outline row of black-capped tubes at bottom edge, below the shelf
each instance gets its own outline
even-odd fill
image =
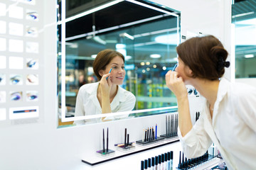
[[[159,156],[145,159],[141,162],[141,169],[144,170],[172,170],[173,169],[174,152],[166,152]]]

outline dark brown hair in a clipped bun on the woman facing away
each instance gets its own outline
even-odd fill
[[[223,76],[230,62],[228,52],[213,35],[186,40],[176,47],[178,57],[188,66],[193,78],[217,80]]]

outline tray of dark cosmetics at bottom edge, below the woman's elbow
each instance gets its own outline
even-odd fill
[[[184,157],[184,153],[182,153],[182,156],[181,156],[181,152],[180,152],[177,169],[192,169],[199,166],[200,164],[203,164],[204,162],[207,162],[209,159],[212,159],[212,158],[213,156],[209,155],[208,152],[206,152],[206,154],[203,154],[203,156],[201,157],[187,159],[186,157]]]

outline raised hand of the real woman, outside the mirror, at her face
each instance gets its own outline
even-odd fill
[[[174,92],[177,99],[188,96],[183,79],[182,77],[177,77],[177,72],[169,71],[166,73],[166,86]]]

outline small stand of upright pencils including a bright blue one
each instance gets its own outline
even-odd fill
[[[155,129],[154,127],[143,129],[142,140],[137,140],[136,143],[137,145],[150,145],[160,141],[164,141],[164,137],[157,136],[157,124],[156,124]]]

